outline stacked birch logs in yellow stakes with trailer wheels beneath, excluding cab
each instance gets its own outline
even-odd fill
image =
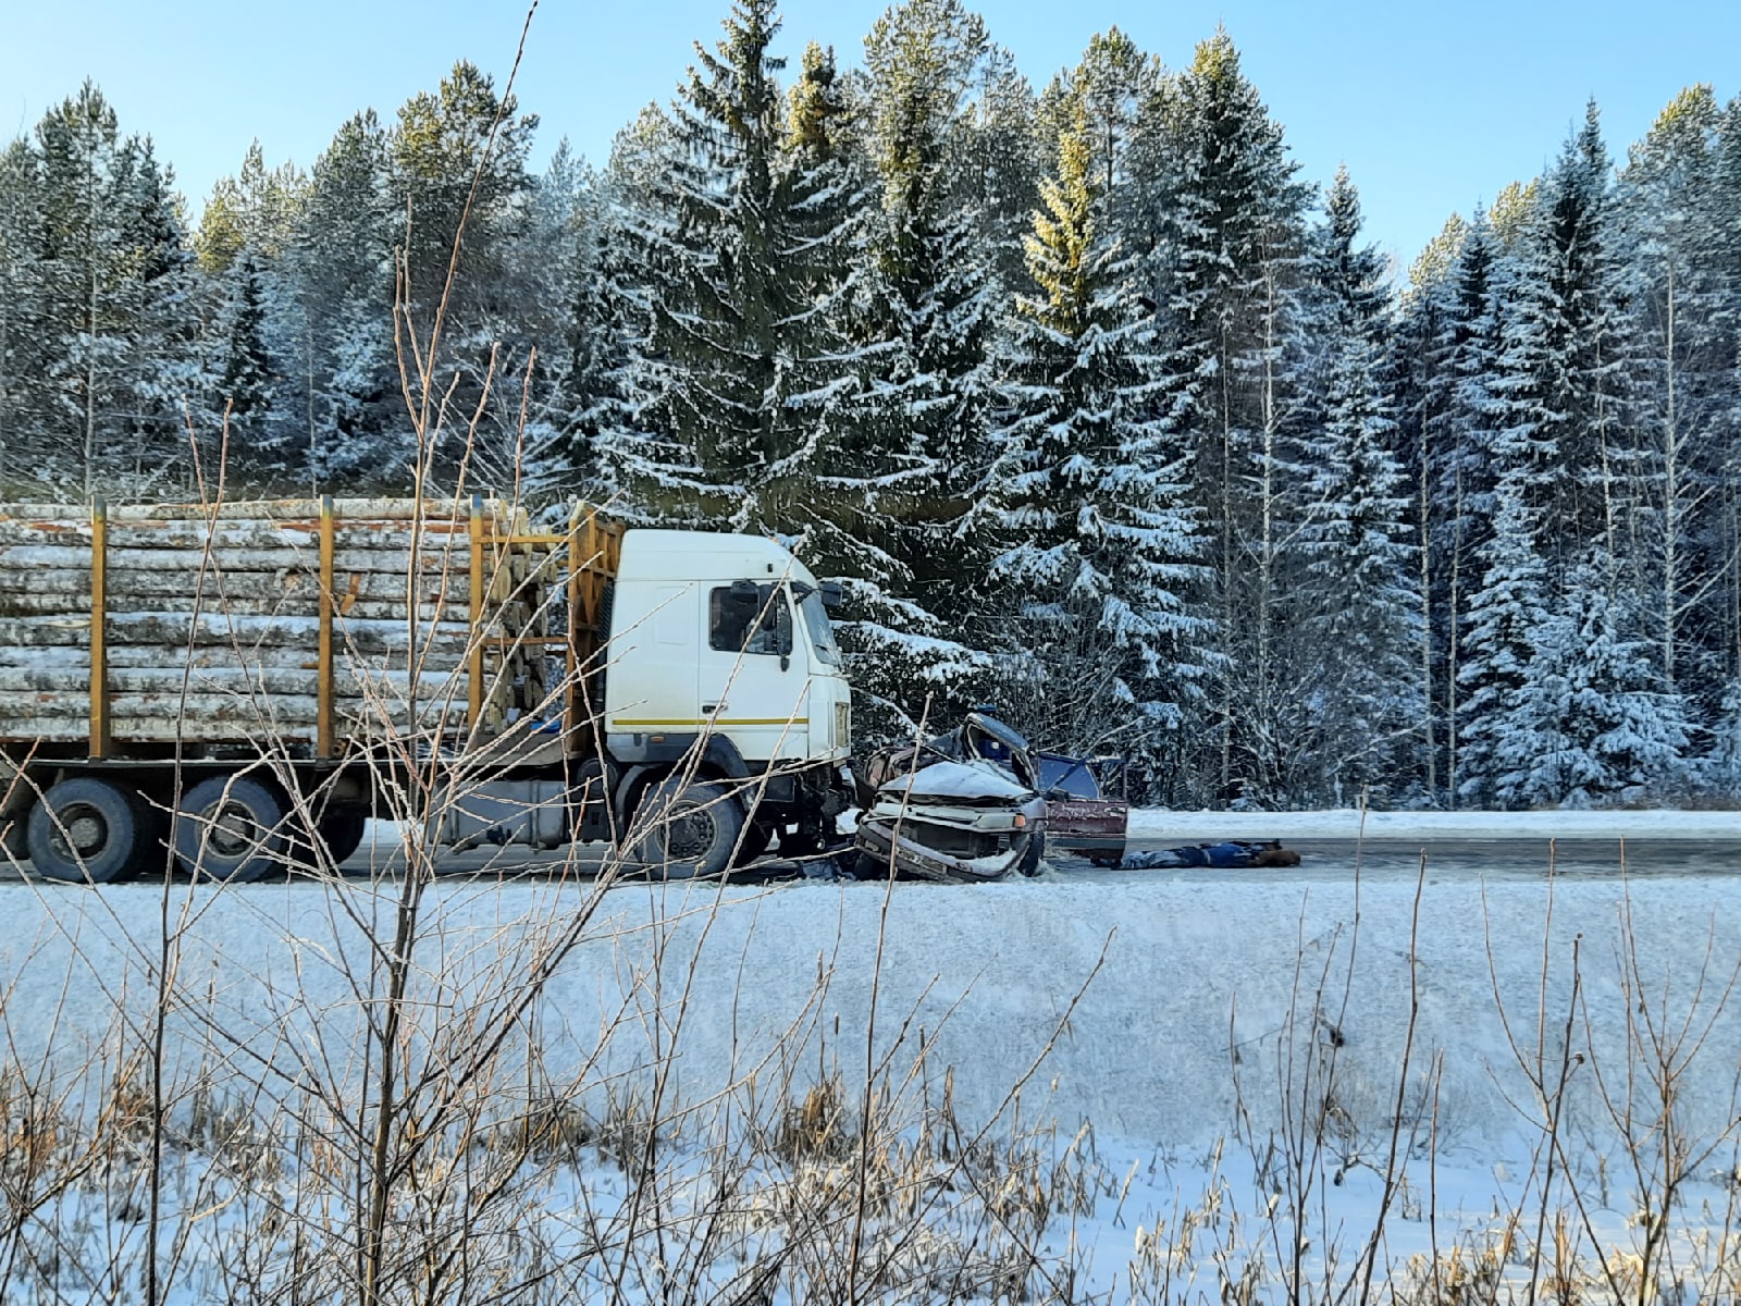
[[[165,839],[251,878],[343,862],[432,757],[568,792],[602,773],[622,540],[486,498],[0,503],[0,839],[50,878],[162,869]]]

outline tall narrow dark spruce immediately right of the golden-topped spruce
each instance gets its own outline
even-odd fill
[[[1283,542],[1299,517],[1290,414],[1306,190],[1226,31],[1154,111],[1166,146],[1151,259],[1163,404],[1208,526],[1201,597],[1213,622],[1212,677],[1182,737],[1196,751],[1179,764],[1201,777],[1198,801],[1276,803],[1295,703],[1276,636]]]

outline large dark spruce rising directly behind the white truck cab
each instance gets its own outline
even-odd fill
[[[620,474],[653,519],[801,533],[829,406],[851,383],[825,305],[825,178],[787,150],[776,31],[773,0],[742,0],[717,52],[698,47],[634,233],[653,277],[641,425],[665,448]]]

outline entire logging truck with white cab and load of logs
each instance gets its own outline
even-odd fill
[[[0,505],[0,839],[89,883],[333,869],[371,815],[670,876],[818,852],[834,599],[773,540],[486,498]]]

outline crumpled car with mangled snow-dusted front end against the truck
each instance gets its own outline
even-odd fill
[[[857,784],[862,879],[977,883],[1039,869],[1046,801],[1034,761],[992,716],[970,712],[945,735],[883,749]]]

